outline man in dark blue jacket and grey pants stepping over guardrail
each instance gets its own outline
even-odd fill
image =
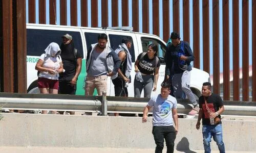
[[[181,41],[178,33],[172,32],[170,39],[172,43],[167,45],[168,52],[165,55],[165,61],[168,61],[165,70],[166,79],[170,79],[170,69],[174,64],[172,78],[174,95],[176,98],[181,98],[182,92],[184,92],[190,104],[194,106],[188,114],[196,115],[199,112],[199,105],[190,89],[190,71],[192,70],[190,62],[194,61],[195,57],[188,42]]]

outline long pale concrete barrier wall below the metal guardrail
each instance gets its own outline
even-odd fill
[[[155,148],[152,118],[3,114],[0,146],[65,146]],[[203,150],[197,119],[179,119],[177,150]],[[256,121],[223,120],[226,150],[256,150]],[[218,150],[212,140],[212,150]]]

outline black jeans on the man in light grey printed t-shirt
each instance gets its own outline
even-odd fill
[[[162,152],[164,139],[167,146],[167,153],[174,152],[174,140],[176,138],[174,126],[153,126],[152,133],[157,145],[155,153]]]

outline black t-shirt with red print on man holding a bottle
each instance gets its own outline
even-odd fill
[[[219,110],[219,108],[221,106],[223,106],[223,100],[221,99],[221,97],[218,94],[211,93],[210,96],[205,97],[205,98],[207,101],[208,108],[212,112],[217,112]],[[199,108],[203,109],[203,117],[202,117],[203,125],[210,125],[210,118],[209,118],[209,115],[208,115],[208,112],[206,110],[206,106],[204,103],[204,96],[199,97]],[[221,118],[221,115],[219,115],[218,117]],[[221,124],[221,121],[218,124]]]

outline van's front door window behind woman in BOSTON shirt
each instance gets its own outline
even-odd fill
[[[146,37],[141,37],[141,44],[142,44],[142,50],[143,52],[147,52],[147,46],[155,43],[158,45],[158,53],[157,56],[160,59],[161,64],[164,63],[164,56],[165,53],[167,51],[167,47],[165,44],[163,44],[161,41],[157,40],[157,39],[152,39],[152,38],[146,38]]]

